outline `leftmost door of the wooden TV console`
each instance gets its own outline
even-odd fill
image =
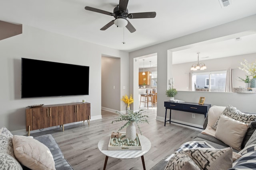
[[[37,130],[49,127],[48,107],[26,109],[26,129]]]

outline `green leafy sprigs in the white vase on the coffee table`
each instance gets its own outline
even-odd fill
[[[148,120],[147,120],[148,115],[143,115],[142,109],[140,109],[139,111],[135,111],[135,112],[128,109],[127,112],[128,112],[127,114],[124,114],[120,111],[116,111],[116,113],[118,113],[119,116],[116,117],[114,119],[114,121],[112,121],[112,124],[114,122],[127,121],[122,127],[120,127],[120,129],[118,130],[118,131],[120,131],[120,130],[124,129],[125,127],[129,126],[130,123],[133,121],[134,123],[137,124],[140,134],[142,134],[138,123],[144,123],[144,122],[148,123]]]

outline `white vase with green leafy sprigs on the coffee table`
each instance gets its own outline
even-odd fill
[[[141,130],[140,130],[140,126],[138,125],[138,123],[148,123],[147,117],[148,115],[143,115],[142,112],[143,110],[140,109],[139,111],[132,111],[130,109],[127,110],[127,114],[124,114],[120,111],[116,111],[116,113],[118,113],[118,117],[116,117],[114,119],[114,121],[112,121],[112,124],[114,122],[119,122],[119,121],[127,121],[123,126],[120,127],[120,130],[122,130],[123,128],[126,127],[126,138],[130,139],[130,140],[134,140],[136,139],[136,127],[135,124],[137,124],[137,127],[140,131],[140,134],[142,134]]]

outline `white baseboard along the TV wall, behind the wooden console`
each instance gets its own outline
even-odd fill
[[[94,120],[98,120],[98,119],[102,119],[102,116],[101,115],[96,115],[96,116],[92,116],[90,118],[90,121],[94,121]],[[70,125],[76,125],[76,124],[79,124],[79,123],[87,123],[87,121],[78,121],[78,122],[73,122],[73,123],[67,123],[67,124],[64,124],[64,129],[66,126],[70,126]],[[90,122],[91,123],[91,122]],[[60,126],[52,126],[52,127],[46,127],[44,128],[43,130],[41,131],[47,131],[47,130],[51,130],[51,129],[56,129],[56,128],[60,128]],[[61,128],[62,129],[62,128]],[[30,135],[32,133],[36,133],[36,132],[41,132],[39,129],[38,130],[34,130],[34,131],[30,131]],[[12,135],[27,135],[28,132],[26,131],[26,129],[21,129],[21,130],[16,130],[16,131],[11,131]],[[33,135],[31,135],[33,136]]]

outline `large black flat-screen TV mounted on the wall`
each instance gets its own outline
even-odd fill
[[[21,98],[89,94],[89,66],[22,58]]]

